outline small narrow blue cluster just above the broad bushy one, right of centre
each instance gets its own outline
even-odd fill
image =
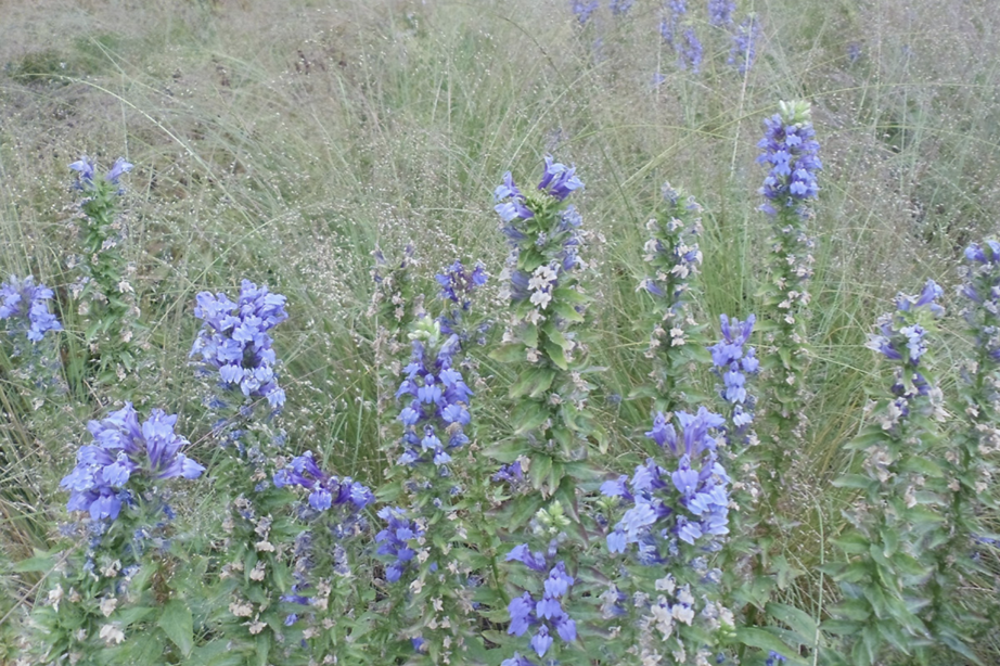
[[[744,350],[744,345],[749,341],[754,331],[756,317],[751,315],[746,321],[722,315],[720,318],[722,340],[708,347],[711,353],[711,363],[715,373],[722,379],[722,389],[719,395],[732,405],[732,424],[736,432],[729,436],[730,444],[745,443],[746,430],[754,421],[754,396],[746,393],[746,375],[756,374],[760,368],[757,360],[757,349],[751,347]]]

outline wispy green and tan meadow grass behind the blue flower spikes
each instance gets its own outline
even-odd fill
[[[843,446],[867,390],[884,383],[864,347],[897,292],[928,278],[953,294],[963,248],[997,233],[1000,209],[1000,5],[992,0],[740,0],[760,35],[745,73],[732,38],[702,3],[697,72],[677,66],[659,2],[637,0],[586,25],[569,2],[371,0],[61,2],[0,9],[0,272],[34,273],[68,307],[80,264],[78,195],[67,165],[81,154],[136,165],[123,181],[128,281],[148,348],[132,396],[181,414],[200,451],[206,388],[188,351],[201,291],[243,278],[289,297],[277,347],[291,446],[371,484],[383,457],[374,408],[374,324],[367,315],[372,252],[415,246],[418,291],[454,259],[496,278],[507,246],[492,210],[504,171],[534,178],[542,156],[575,164],[591,234],[582,278],[592,306],[593,407],[611,453],[640,449],[649,404],[620,400],[643,382],[651,309],[644,222],[669,181],[704,206],[697,316],[759,307],[768,220],[755,164],[761,120],[779,100],[812,103],[824,169],[808,323],[809,430],[782,535],[784,601],[822,615],[832,588],[818,566],[845,527]],[[502,318],[493,279],[485,311]],[[936,353],[966,343],[944,321]],[[10,359],[4,357],[10,369]],[[477,437],[511,431],[510,376],[482,359]],[[82,375],[80,375],[82,377]],[[74,399],[44,419],[0,373],[0,616],[8,629],[34,601],[37,577],[12,573],[48,550],[67,520],[59,482],[87,420],[125,396],[67,377]],[[79,379],[79,381],[77,381]],[[707,371],[697,379],[707,394]],[[150,398],[145,398],[146,400]],[[30,413],[30,410],[28,411]],[[210,505],[209,495],[197,502]],[[0,627],[0,643],[4,627]],[[982,645],[1000,658],[1000,645]],[[0,662],[4,658],[0,649]]]

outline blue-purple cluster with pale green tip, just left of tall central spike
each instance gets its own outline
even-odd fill
[[[471,420],[466,405],[472,390],[451,366],[458,343],[458,336],[451,335],[435,355],[424,342],[413,341],[410,364],[403,369],[407,377],[396,392],[397,398],[409,396],[399,412],[403,425],[399,464],[433,462],[445,476],[449,451],[469,443],[463,428]]]

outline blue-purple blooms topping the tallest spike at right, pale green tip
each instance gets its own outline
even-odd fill
[[[770,166],[760,188],[760,194],[768,200],[761,210],[768,215],[777,215],[780,209],[786,208],[805,217],[805,202],[819,194],[816,172],[823,166],[816,156],[819,143],[815,140],[812,123],[807,118],[808,111],[799,113],[793,108],[764,121],[766,131],[757,143],[764,152],[757,157],[757,163]]]

